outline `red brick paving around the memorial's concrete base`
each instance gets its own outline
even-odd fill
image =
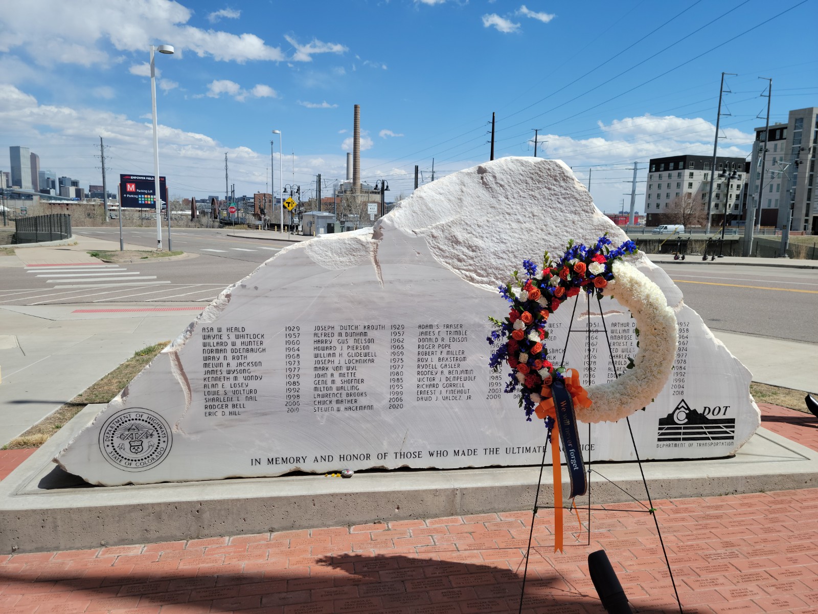
[[[762,416],[818,449],[810,414],[762,405]],[[640,612],[678,612],[653,519],[606,507],[618,511],[593,513],[590,545],[569,517],[561,554],[551,513],[538,514],[524,612],[603,612],[587,569],[600,548]],[[818,488],[654,508],[685,612],[818,612]],[[517,612],[530,513],[0,555],[0,612]]]

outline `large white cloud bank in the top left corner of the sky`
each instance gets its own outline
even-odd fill
[[[34,19],[32,16],[47,16]],[[0,12],[0,52],[25,49],[39,65],[110,65],[117,52],[147,55],[156,41],[218,61],[282,61],[280,47],[255,34],[230,34],[187,25],[192,11],[173,0],[64,0],[11,2]],[[143,56],[144,57],[144,56]]]

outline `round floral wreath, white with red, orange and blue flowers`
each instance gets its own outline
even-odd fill
[[[489,366],[497,372],[506,362],[512,368],[506,392],[519,386],[519,404],[530,421],[532,413],[546,419],[546,427],[555,418],[551,386],[563,382],[573,398],[576,417],[582,422],[615,422],[645,408],[662,390],[670,376],[676,344],[676,314],[667,305],[659,287],[636,267],[622,260],[624,255],[638,252],[636,244],[626,241],[612,249],[607,234],[595,246],[587,247],[569,241],[560,260],[543,255],[542,269],[532,260],[524,260],[527,277],[517,271],[505,286],[501,296],[511,304],[503,320],[489,318],[495,327],[488,342],[505,338],[492,353]],[[555,367],[548,360],[545,330],[548,317],[560,305],[581,291],[598,298],[610,296],[630,309],[636,320],[636,357],[625,373],[605,384],[589,386],[585,391],[574,369]]]

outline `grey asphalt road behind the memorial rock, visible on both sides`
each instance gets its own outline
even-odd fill
[[[118,228],[75,228],[119,242]],[[174,249],[195,258],[99,269],[106,282],[76,271],[2,269],[0,305],[181,303],[213,300],[290,242],[231,237],[225,229],[173,232]],[[151,228],[124,228],[125,242],[153,248]],[[818,343],[818,269],[725,264],[664,264],[704,323],[715,330]],[[49,275],[48,273],[53,273]],[[79,281],[78,281],[79,280]],[[117,285],[119,284],[119,285]]]

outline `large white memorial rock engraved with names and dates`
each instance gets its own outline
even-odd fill
[[[603,233],[627,239],[560,161],[504,158],[430,183],[374,229],[288,247],[228,287],[55,461],[101,485],[538,464],[546,429],[503,392],[508,369],[490,372],[487,317],[506,314],[496,288],[521,260]],[[680,340],[667,386],[631,416],[640,458],[734,453],[759,425],[748,370],[662,269],[634,263]],[[570,337],[566,363],[609,381],[600,314],[578,301],[573,327],[592,332]],[[634,323],[602,304],[621,372]],[[571,308],[548,322],[554,363]],[[586,460],[636,458],[624,421],[580,432]]]

